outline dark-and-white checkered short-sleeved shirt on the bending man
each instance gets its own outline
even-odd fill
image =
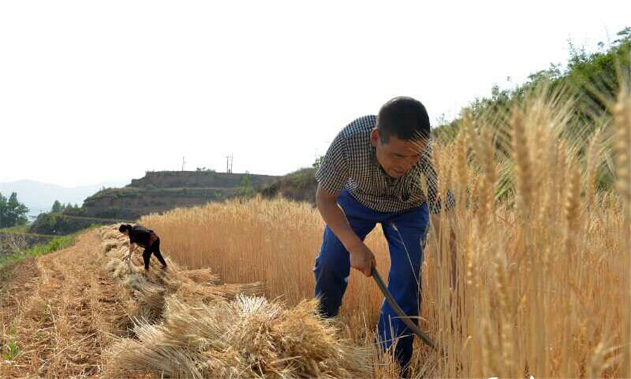
[[[392,178],[379,165],[370,132],[376,116],[363,116],[342,129],[324,156],[315,179],[325,190],[339,195],[346,188],[362,205],[377,212],[401,212],[428,203],[432,214],[441,209],[437,177],[428,144],[416,163],[400,178]],[[427,184],[426,198],[421,186]],[[447,193],[447,209],[454,206],[451,191]]]

